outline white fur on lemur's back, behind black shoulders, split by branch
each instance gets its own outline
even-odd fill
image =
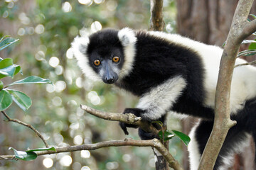
[[[151,35],[170,40],[170,42],[191,49],[200,55],[206,70],[204,87],[206,89],[206,101],[204,104],[211,108],[215,105],[215,89],[218,80],[220,59],[223,49],[214,45],[206,45],[181,35],[162,32],[149,32]],[[245,60],[237,59],[235,64],[245,63]],[[230,111],[235,113],[244,106],[244,102],[256,96],[256,67],[242,66],[234,69],[230,91]]]

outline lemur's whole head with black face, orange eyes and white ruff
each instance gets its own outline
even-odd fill
[[[76,37],[72,49],[86,77],[113,84],[132,70],[137,38],[134,30],[105,29]]]

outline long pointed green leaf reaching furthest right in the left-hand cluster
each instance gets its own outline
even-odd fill
[[[31,76],[31,77],[26,77],[25,79],[15,81],[9,84],[8,86],[14,86],[16,84],[53,84],[53,83],[49,79],[43,79],[41,77]]]

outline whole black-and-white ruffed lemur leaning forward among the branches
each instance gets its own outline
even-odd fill
[[[179,35],[124,28],[75,38],[73,51],[87,77],[114,83],[139,96],[137,108],[124,113],[149,121],[159,120],[169,111],[203,118],[191,130],[188,147],[191,168],[197,168],[213,126],[215,87],[223,52],[220,47]],[[236,64],[244,62],[238,59]],[[255,78],[255,67],[235,68],[230,109],[238,125],[230,129],[215,169],[223,168],[224,158],[237,151],[235,146],[245,141],[247,133],[256,136]],[[142,131],[140,135],[146,136]]]

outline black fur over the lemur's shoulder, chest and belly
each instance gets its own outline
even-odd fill
[[[213,109],[203,106],[204,68],[198,54],[143,31],[137,32],[136,36],[134,68],[117,86],[142,96],[167,79],[181,75],[188,85],[170,109],[179,113],[213,118]]]

